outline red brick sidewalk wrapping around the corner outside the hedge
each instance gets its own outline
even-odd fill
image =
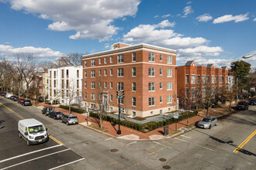
[[[43,107],[50,107],[50,105],[43,104],[43,103],[39,103],[38,105],[43,106]],[[60,107],[54,107],[54,109],[55,110],[60,110],[64,114],[69,113],[68,110],[64,110]],[[210,109],[209,110],[209,116],[220,117],[221,115],[225,114],[225,112],[227,112],[228,109],[229,109],[228,106],[227,107],[216,108],[215,111]],[[83,123],[83,122],[87,121],[86,120],[87,116],[85,116],[85,115],[78,114],[78,113],[75,113],[75,112],[72,112],[72,114],[74,114],[78,117],[79,123]],[[193,124],[196,121],[201,120],[202,117],[205,117],[205,116],[206,116],[206,110],[202,110],[202,111],[200,111],[199,115],[189,118],[189,124]],[[99,126],[99,123],[98,123],[99,120],[98,119],[95,119],[93,117],[88,117],[88,121],[91,122],[92,124],[95,124],[96,126]],[[186,119],[183,120],[183,121],[179,121],[177,123],[177,129],[184,128],[184,127],[186,127],[186,125],[187,125],[187,120]],[[122,134],[117,135],[116,132],[118,130],[118,124],[112,124],[109,121],[102,121],[102,127],[104,128],[104,131],[102,131],[102,132],[107,133],[107,134],[111,134],[112,136],[115,136],[115,137],[122,137],[122,136],[126,136],[126,135],[129,135],[129,134],[135,134],[140,139],[150,139],[150,136],[152,136],[152,135],[161,135],[161,136],[163,136],[163,134],[164,134],[164,128],[157,128],[154,131],[149,131],[147,133],[143,133],[143,132],[140,132],[140,131],[135,131],[132,128],[126,128],[126,127],[120,125],[120,130],[122,131]],[[175,124],[168,125],[168,128],[169,128],[169,137],[171,137],[172,134],[170,132],[175,131]]]

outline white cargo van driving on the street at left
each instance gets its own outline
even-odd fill
[[[26,140],[26,145],[48,141],[47,128],[36,119],[24,119],[18,123],[19,138]]]

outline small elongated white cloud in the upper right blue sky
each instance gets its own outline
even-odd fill
[[[230,22],[230,21],[234,21],[234,22],[243,22],[246,21],[247,19],[249,19],[249,17],[247,16],[249,15],[249,13],[247,12],[246,14],[241,14],[241,15],[223,15],[220,16],[217,19],[213,20],[213,24],[218,24],[218,23],[223,23],[223,22]]]

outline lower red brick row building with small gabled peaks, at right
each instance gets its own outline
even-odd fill
[[[185,66],[177,66],[177,74],[178,98],[193,98],[196,90],[200,90],[203,97],[206,92],[206,86],[211,86],[214,90],[220,91],[228,83],[227,66],[222,66],[221,68],[215,68],[213,64],[196,66],[195,61],[188,61]]]

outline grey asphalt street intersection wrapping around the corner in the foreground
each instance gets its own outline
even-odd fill
[[[223,117],[211,129],[195,128],[161,141],[125,141],[80,125],[61,124],[45,117],[36,107],[23,107],[3,97],[0,103],[11,109],[0,104],[0,169],[12,165],[16,165],[13,169],[49,169],[81,158],[85,159],[60,169],[256,168],[256,135],[251,135],[256,130],[256,106]],[[17,122],[22,117],[41,121],[53,138],[44,144],[27,146],[17,132]],[[240,151],[234,152],[241,144]],[[37,152],[29,154],[31,151]],[[16,158],[22,154],[28,155]],[[19,162],[25,163],[17,165]]]

